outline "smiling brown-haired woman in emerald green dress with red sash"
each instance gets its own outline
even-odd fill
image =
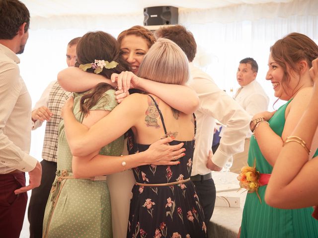
[[[309,69],[318,57],[318,46],[307,36],[291,33],[271,48],[266,79],[274,95],[287,103],[275,112],[256,114],[250,123],[253,131],[248,152],[248,165],[260,173],[256,191],[247,193],[240,238],[313,238],[318,237],[318,221],[313,208],[278,209],[264,201],[273,165],[309,104],[313,81]],[[311,148],[310,158],[317,150]],[[286,165],[287,166],[287,165]],[[241,182],[244,182],[242,175]],[[249,177],[249,176],[248,176]]]

